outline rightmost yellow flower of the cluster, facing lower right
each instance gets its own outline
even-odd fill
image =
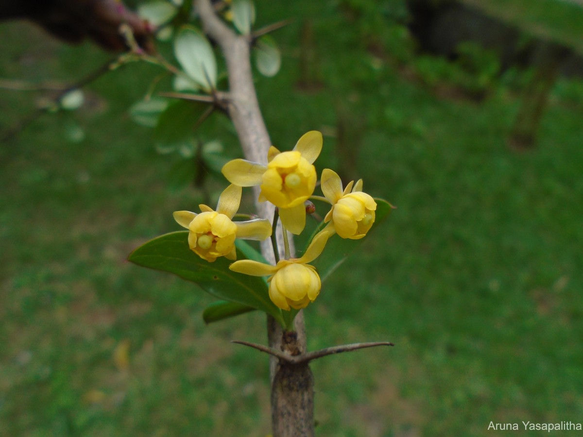
[[[321,185],[322,193],[332,204],[332,209],[324,217],[326,223],[331,222],[326,228],[333,228],[342,238],[363,238],[374,223],[374,212],[377,209],[377,202],[361,191],[363,180],[356,182],[354,188],[353,182],[350,182],[343,191],[338,174],[325,168]]]

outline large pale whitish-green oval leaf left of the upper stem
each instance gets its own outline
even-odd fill
[[[174,40],[174,55],[202,90],[210,93],[216,87],[215,52],[200,30],[192,26],[182,27]]]

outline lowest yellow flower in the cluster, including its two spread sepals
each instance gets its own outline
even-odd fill
[[[318,297],[322,286],[315,267],[308,263],[322,253],[330,235],[327,231],[319,232],[301,258],[282,259],[275,266],[244,259],[234,262],[229,269],[251,276],[270,276],[269,298],[275,305],[286,311],[290,311],[290,306],[305,308]]]

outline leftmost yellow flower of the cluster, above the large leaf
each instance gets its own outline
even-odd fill
[[[188,245],[202,259],[214,262],[219,256],[237,259],[235,238],[264,240],[271,235],[269,220],[232,221],[241,203],[241,187],[229,185],[221,193],[216,211],[199,205],[201,213],[177,211],[174,220],[189,230]]]

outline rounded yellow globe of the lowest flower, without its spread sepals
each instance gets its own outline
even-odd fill
[[[318,297],[322,283],[313,266],[290,262],[269,282],[269,298],[281,309],[301,309]]]

